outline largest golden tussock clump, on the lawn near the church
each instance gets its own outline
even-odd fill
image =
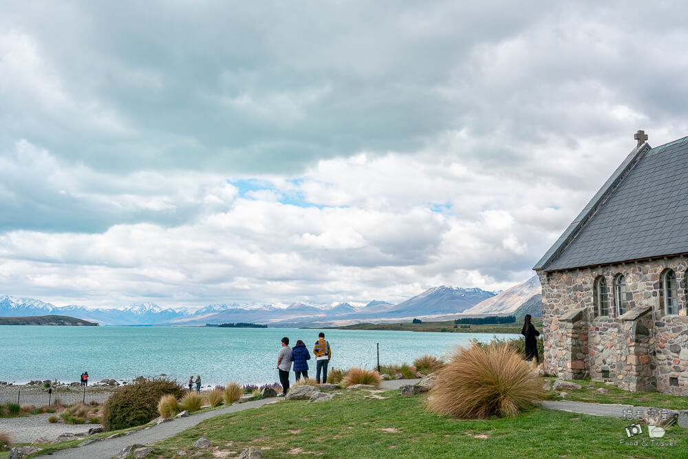
[[[438,374],[428,407],[458,418],[516,416],[544,397],[528,363],[507,345],[459,348]]]

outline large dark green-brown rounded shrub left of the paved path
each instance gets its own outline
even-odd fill
[[[109,398],[103,413],[103,425],[108,430],[127,429],[143,425],[158,416],[158,402],[165,394],[179,398],[182,385],[167,378],[151,378],[125,385]]]

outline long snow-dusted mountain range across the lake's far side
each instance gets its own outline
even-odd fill
[[[373,300],[334,304],[297,302],[283,304],[211,304],[204,308],[161,308],[137,303],[125,308],[57,307],[39,299],[0,296],[0,317],[67,315],[100,325],[205,325],[206,323],[253,322],[272,327],[348,325],[360,322],[448,319],[464,315],[542,314],[537,277],[495,295],[480,288],[439,286],[429,288],[398,304]],[[524,312],[524,311],[528,312]]]

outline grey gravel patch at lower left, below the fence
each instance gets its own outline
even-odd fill
[[[60,434],[85,434],[91,427],[99,427],[98,424],[50,424],[47,418],[53,416],[50,413],[34,414],[21,418],[0,418],[0,431],[6,431],[16,443],[30,443],[36,438],[54,440]]]

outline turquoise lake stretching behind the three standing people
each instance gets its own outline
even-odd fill
[[[0,325],[0,381],[89,381],[167,374],[188,381],[200,374],[203,385],[277,382],[277,351],[282,337],[312,350],[319,331],[332,346],[330,368],[376,367],[412,363],[422,354],[444,356],[471,339],[494,334],[396,332],[372,330],[296,330],[287,328],[202,327],[52,327]],[[500,338],[519,335],[499,334]],[[309,361],[309,376],[315,374]],[[292,373],[293,379],[293,373]]]

